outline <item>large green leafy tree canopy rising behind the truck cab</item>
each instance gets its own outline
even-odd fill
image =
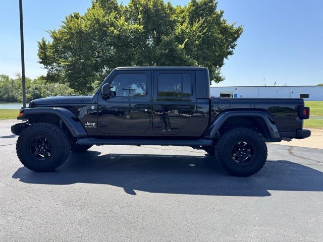
[[[221,67],[233,54],[242,26],[229,24],[215,0],[172,6],[163,0],[93,0],[84,15],[73,13],[50,41],[38,42],[46,79],[89,92],[122,66],[202,66],[224,80]]]

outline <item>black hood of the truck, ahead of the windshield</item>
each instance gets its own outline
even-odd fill
[[[45,97],[32,100],[30,102],[30,107],[38,105],[57,105],[57,104],[80,104],[83,98],[91,98],[92,96],[57,96],[57,97]]]

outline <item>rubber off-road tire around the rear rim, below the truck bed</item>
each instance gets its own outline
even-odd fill
[[[233,148],[240,141],[250,143],[254,150],[254,155],[248,163],[240,164],[233,158]],[[257,173],[267,159],[267,146],[263,137],[247,128],[235,128],[224,133],[218,140],[215,150],[220,165],[229,174],[235,176],[249,176]]]

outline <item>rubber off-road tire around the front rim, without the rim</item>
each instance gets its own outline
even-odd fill
[[[52,155],[44,161],[37,160],[30,150],[34,137],[47,137],[53,149]],[[70,154],[71,142],[66,132],[57,125],[34,124],[22,131],[17,140],[16,151],[21,163],[33,171],[51,171],[62,165]]]

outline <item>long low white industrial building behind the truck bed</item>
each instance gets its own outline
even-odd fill
[[[323,86],[238,86],[211,87],[211,97],[232,98],[304,98],[323,101]]]

